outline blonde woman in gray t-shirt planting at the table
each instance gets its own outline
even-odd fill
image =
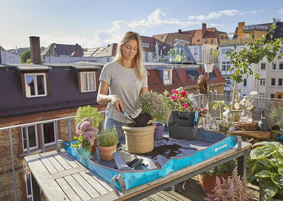
[[[137,117],[139,94],[149,91],[146,70],[142,65],[141,40],[137,33],[125,33],[117,47],[115,60],[105,64],[99,81],[98,104],[108,104],[105,127],[115,125],[118,137],[122,137],[122,125],[129,123],[129,120],[121,112],[125,110],[131,117]]]

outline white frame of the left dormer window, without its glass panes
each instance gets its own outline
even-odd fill
[[[31,96],[28,96],[28,91],[27,91],[27,88],[28,88],[28,84],[27,84],[27,78],[26,76],[33,76],[33,79],[34,79],[34,88],[35,88],[35,95],[31,95]],[[38,95],[38,87],[37,87],[37,76],[43,76],[43,83],[44,83],[44,91],[45,93],[44,94],[40,94]],[[42,97],[42,96],[47,96],[47,78],[46,78],[46,73],[24,73],[23,74],[23,79],[24,79],[24,88],[25,88],[25,97],[26,98],[35,98],[35,97]]]

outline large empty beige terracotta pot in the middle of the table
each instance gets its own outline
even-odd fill
[[[144,154],[154,149],[155,124],[135,127],[134,123],[122,126],[125,133],[127,151],[133,154]]]

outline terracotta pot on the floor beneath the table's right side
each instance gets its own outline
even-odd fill
[[[227,180],[227,178],[231,175],[232,174],[230,173],[226,173],[217,176],[218,178],[220,178],[220,182],[222,183],[222,178]],[[216,180],[215,174],[213,174],[212,176],[199,174],[197,175],[197,178],[199,179],[200,185],[202,186],[202,190],[204,191],[205,194],[207,193],[214,194],[214,192],[212,192],[212,189],[214,189],[215,186],[215,180]]]

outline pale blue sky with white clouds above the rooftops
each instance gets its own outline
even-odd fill
[[[270,4],[269,4],[270,2]],[[83,48],[120,42],[131,30],[153,36],[207,28],[233,33],[245,25],[283,21],[282,0],[0,0],[0,45],[4,49],[52,43]]]

